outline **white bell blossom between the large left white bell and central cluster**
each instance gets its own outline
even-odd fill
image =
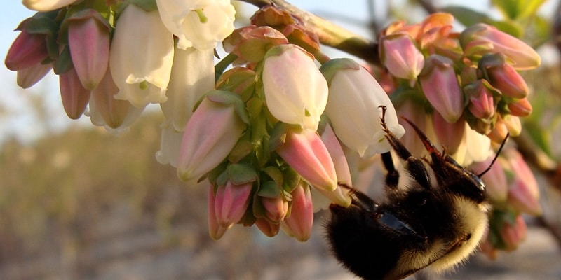
[[[214,52],[212,49],[175,49],[168,100],[160,104],[163,116],[176,131],[183,131],[193,109],[206,92],[214,89]]]

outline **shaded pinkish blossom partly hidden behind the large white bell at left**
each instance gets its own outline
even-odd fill
[[[140,117],[144,108],[137,108],[126,100],[115,99],[118,92],[119,88],[107,67],[107,72],[95,90],[92,90],[90,97],[89,114],[94,125],[124,129]]]

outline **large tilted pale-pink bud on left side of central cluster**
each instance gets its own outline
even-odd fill
[[[236,109],[241,102],[236,94],[217,90],[199,104],[185,126],[177,160],[180,179],[198,179],[227,157],[245,130]]]

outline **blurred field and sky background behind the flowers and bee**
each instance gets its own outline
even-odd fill
[[[505,20],[485,0],[290,2],[370,38],[396,18],[418,22],[431,7],[463,5]],[[527,239],[518,250],[501,252],[496,260],[478,254],[457,273],[419,278],[561,279],[561,179],[555,164],[561,159],[555,145],[561,140],[560,4],[518,2],[545,2],[531,22],[513,21],[543,57],[543,66],[525,73],[534,113],[525,118],[527,134],[517,142],[539,180],[544,214],[527,217]],[[0,52],[6,53],[18,35],[11,30],[33,13],[19,1],[3,6]],[[255,11],[245,4],[237,8],[240,25]],[[212,241],[206,187],[186,186],[175,169],[156,162],[163,121],[156,110],[145,112],[128,132],[109,134],[86,117],[65,116],[52,73],[22,90],[15,73],[2,66],[0,83],[0,279],[353,279],[327,251],[325,212],[316,214],[314,234],[305,243],[239,225]]]

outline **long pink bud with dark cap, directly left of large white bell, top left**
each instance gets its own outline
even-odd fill
[[[93,9],[81,10],[67,22],[72,63],[83,87],[93,90],[109,64],[109,23]]]

